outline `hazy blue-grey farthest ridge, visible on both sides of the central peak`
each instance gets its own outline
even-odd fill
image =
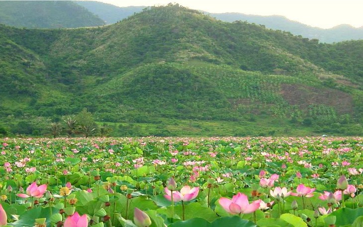
[[[118,7],[112,4],[106,4],[99,1],[75,1],[94,14],[98,15],[101,19],[106,21],[107,24],[120,21],[133,13],[141,12],[146,6],[129,6]],[[284,16],[260,16],[249,15],[243,13],[208,13],[207,15],[213,16],[222,21],[233,22],[236,20],[247,21],[250,23],[262,24],[267,28],[274,30],[288,31],[294,35],[301,35],[309,39],[319,39],[320,42],[333,43],[344,40],[358,40],[363,39],[363,27],[355,28],[351,25],[338,25],[330,29],[323,29],[319,27],[312,27],[297,21],[292,21]]]

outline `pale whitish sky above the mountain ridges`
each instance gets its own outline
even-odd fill
[[[283,15],[315,27],[363,26],[363,0],[98,0],[117,6],[163,5],[177,2],[207,12]]]

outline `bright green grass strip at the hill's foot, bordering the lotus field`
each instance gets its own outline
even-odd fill
[[[253,120],[253,121],[252,121]],[[286,119],[271,116],[246,119],[243,121],[181,120],[160,118],[153,123],[113,123],[111,135],[121,136],[316,136],[311,127],[301,123],[291,126]],[[104,123],[104,122],[99,122]]]

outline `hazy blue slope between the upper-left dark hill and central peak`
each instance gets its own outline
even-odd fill
[[[90,12],[99,16],[107,24],[113,24],[134,13],[141,12],[147,6],[128,6],[118,7],[113,4],[107,4],[99,1],[74,1],[75,3],[87,8]]]

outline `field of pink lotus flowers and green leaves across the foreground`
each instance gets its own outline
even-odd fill
[[[2,138],[0,227],[363,226],[362,137]]]

